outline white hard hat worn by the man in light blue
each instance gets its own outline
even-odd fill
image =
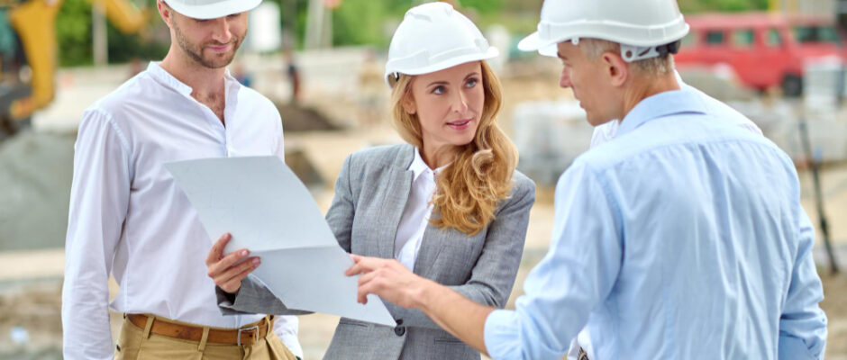
[[[561,41],[594,38],[621,44],[624,59],[635,61],[658,56],[655,47],[686,34],[688,24],[676,0],[545,0],[538,31],[521,40],[518,49],[556,56]]]

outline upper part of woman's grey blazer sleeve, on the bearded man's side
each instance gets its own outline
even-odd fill
[[[335,180],[335,196],[332,197],[332,205],[330,210],[326,211],[326,222],[329,223],[332,233],[338,240],[338,245],[348,253],[351,252],[351,231],[353,217],[356,215],[350,179],[351,162],[352,155],[344,159],[342,171]]]

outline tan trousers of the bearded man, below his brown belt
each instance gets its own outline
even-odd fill
[[[167,320],[167,319],[163,319]],[[167,320],[168,322],[179,321]],[[196,325],[195,325],[196,326]],[[296,356],[273,331],[253,345],[237,346],[168,338],[141,329],[123,320],[121,335],[114,349],[115,360],[192,359],[192,360],[296,360]]]

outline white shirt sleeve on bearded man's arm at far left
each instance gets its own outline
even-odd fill
[[[88,111],[79,124],[65,242],[62,287],[66,359],[111,359],[109,274],[131,186],[130,148],[105,112]]]

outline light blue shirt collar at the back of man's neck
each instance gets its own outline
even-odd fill
[[[635,130],[648,121],[686,112],[706,113],[706,104],[697,94],[684,90],[654,94],[636,104],[626,114],[615,137]]]

